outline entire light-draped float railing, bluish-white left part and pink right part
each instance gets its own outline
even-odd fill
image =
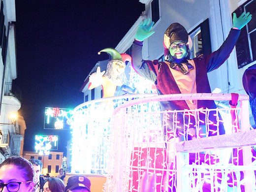
[[[223,107],[164,112],[160,111],[159,101],[188,98],[229,100],[230,94],[148,96],[152,95],[117,96],[92,100],[77,106],[74,109],[71,130],[71,172],[106,175],[105,192],[140,191],[139,178],[145,171],[155,174],[156,192],[167,188],[169,191],[173,191],[174,188],[178,191],[182,188],[181,191],[186,192],[204,192],[206,189],[239,191],[244,188],[255,191],[256,153],[253,148],[243,146],[256,144],[256,131],[251,130],[254,132],[247,133],[248,137],[241,139],[243,131],[250,127],[246,116],[249,114],[248,96],[240,95],[239,99],[245,100],[242,101],[243,107],[233,109]],[[238,125],[232,124],[231,110],[235,110],[236,117],[239,118],[243,133],[239,137],[233,133]],[[207,119],[211,112],[216,114],[215,122]],[[163,140],[160,114],[163,118],[168,118],[169,115],[177,117],[178,113],[191,117],[199,117],[200,113],[206,114],[206,118],[198,119],[195,126],[197,135],[206,138],[185,141],[179,148],[177,146],[177,151],[174,151],[176,160],[169,166],[165,150],[165,142],[168,141]],[[222,114],[222,120],[219,119],[218,114]],[[178,120],[175,118],[174,120],[173,126],[176,129],[175,122]],[[227,134],[208,137],[210,132],[215,131],[210,125],[218,128],[221,122],[224,122]],[[184,128],[189,125],[190,123],[186,124]],[[202,125],[206,127],[205,133],[200,133]],[[186,140],[187,134],[181,133],[181,135]],[[242,143],[241,147],[239,143]],[[220,148],[221,145],[224,149],[214,149],[214,147]],[[166,175],[169,183],[164,182]],[[164,188],[165,186],[167,188]]]

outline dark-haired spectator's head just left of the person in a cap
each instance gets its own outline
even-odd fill
[[[64,192],[64,189],[63,180],[55,177],[48,178],[43,186],[43,192]]]

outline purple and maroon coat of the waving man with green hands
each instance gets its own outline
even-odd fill
[[[195,69],[192,70],[195,70],[196,93],[211,93],[207,72],[219,68],[225,62],[232,52],[239,34],[240,30],[231,29],[226,40],[217,51],[210,55],[203,55],[202,57],[192,59],[195,65]],[[158,95],[181,94],[168,63],[159,62],[158,60],[143,60],[142,45],[143,42],[137,40],[135,40],[132,45],[132,66],[136,72],[155,83]],[[162,111],[190,109],[185,100],[160,102],[160,107]],[[216,104],[213,100],[198,100],[197,108],[215,109]],[[217,122],[215,114],[216,112],[210,112],[209,114],[209,120],[213,122],[213,124],[210,125],[210,129],[218,130],[217,127],[219,127],[219,133],[224,134],[225,131],[222,123],[220,123],[220,125],[214,125]],[[203,113],[200,113],[199,118],[200,120],[205,121],[205,115]],[[186,115],[185,118],[183,118],[183,114],[177,113],[177,119],[179,120],[177,126],[180,128],[177,128],[174,133],[176,136],[179,136],[179,132],[183,132],[185,125],[190,125],[190,128],[194,128],[196,121],[193,116],[189,117]],[[168,126],[164,128],[164,134],[167,133],[166,131],[173,131],[172,114],[170,114],[169,120],[167,121]],[[205,124],[201,123],[201,125]],[[186,129],[187,126],[185,126],[185,130]],[[216,132],[209,132],[209,136],[215,134]]]

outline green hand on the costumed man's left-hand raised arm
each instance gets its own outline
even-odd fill
[[[146,38],[150,37],[152,34],[154,34],[155,32],[151,31],[153,25],[154,25],[154,22],[151,22],[150,18],[143,20],[140,23],[138,30],[135,34],[135,39],[139,41],[143,41]]]

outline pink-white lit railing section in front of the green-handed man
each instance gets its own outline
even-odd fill
[[[189,99],[228,101],[231,100],[231,94],[152,96],[131,100],[115,108],[113,116],[111,117],[109,142],[107,142],[109,145],[109,153],[105,192],[141,192],[140,178],[145,171],[151,172],[157,176],[155,179],[155,192],[160,192],[165,189],[164,174],[170,175],[169,182],[167,183],[170,191],[174,191],[175,188],[177,192],[194,192],[194,190],[202,192],[208,180],[211,192],[226,190],[227,188],[229,188],[229,190],[232,188],[231,190],[234,191],[235,188],[237,188],[237,191],[243,188],[246,192],[256,190],[253,172],[256,170],[256,166],[252,163],[252,158],[254,157],[251,152],[251,146],[256,144],[256,133],[254,130],[250,130],[249,97],[240,95],[238,99],[240,106],[235,109],[227,107],[161,112],[158,108],[151,107],[160,101]],[[230,132],[230,130],[237,129],[238,127],[237,124],[234,125],[231,123],[230,118],[231,111],[235,111],[237,118],[239,118],[237,123],[240,123],[241,133],[212,137],[207,137],[208,134],[206,133],[206,138],[197,137],[195,140],[177,143],[174,152],[176,161],[174,160],[174,165],[170,169],[167,165],[168,162],[164,147],[165,143],[169,141],[166,137],[163,137],[160,115],[163,117],[170,115],[176,117],[178,113],[182,113],[183,115],[198,118],[199,113],[204,113],[205,120],[202,121],[202,119],[198,119],[198,122],[200,122],[200,124],[203,122],[206,127],[206,132],[209,132],[212,131],[209,130],[209,125],[212,125],[213,122],[207,119],[207,114],[212,111],[216,112],[217,130],[219,129],[219,124],[224,123],[226,124],[226,133],[228,130]],[[219,119],[219,114],[222,115],[223,120]],[[229,118],[226,119],[226,117]],[[177,120],[174,118],[174,121]],[[188,124],[187,127],[189,127],[189,125],[190,124]],[[173,126],[175,127],[175,124],[173,124]],[[195,132],[199,133],[199,123],[198,125],[196,123],[195,128]],[[188,135],[186,135],[185,132],[186,126],[184,126],[184,138],[186,140]],[[248,138],[245,139],[245,137]],[[236,139],[241,140],[241,142]],[[241,155],[239,156],[240,149],[237,147],[243,147],[243,158]],[[223,150],[220,150],[220,152],[216,150],[216,148],[229,148],[229,152],[226,153],[227,151]],[[200,151],[205,152],[203,154],[203,160],[200,160],[201,155],[198,153]],[[234,151],[236,151],[237,154]],[[196,154],[193,154],[195,157],[193,162],[189,162],[191,152],[196,152]],[[228,162],[229,159],[231,159],[231,163]],[[243,160],[242,166],[240,166],[239,163],[235,163],[240,159]],[[214,163],[211,162],[212,160]],[[199,165],[200,163],[201,165]],[[234,170],[234,167],[236,167],[236,170]],[[243,170],[243,181],[241,179],[242,177],[240,177],[241,170]],[[221,174],[221,176],[219,174]],[[232,175],[231,184],[227,179],[230,174]],[[246,181],[247,178],[251,178],[251,181]],[[169,185],[169,183],[171,183],[171,185]]]

